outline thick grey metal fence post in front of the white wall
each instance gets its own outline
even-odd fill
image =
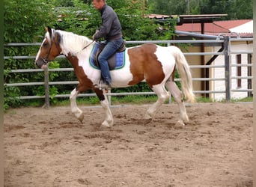
[[[229,37],[224,37],[224,57],[225,57],[225,88],[226,88],[226,101],[231,100],[231,73],[230,73],[230,52],[229,52]]]

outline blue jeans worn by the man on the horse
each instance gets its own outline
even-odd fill
[[[98,57],[101,76],[103,78],[103,81],[105,81],[107,84],[111,84],[112,82],[109,73],[109,64],[107,60],[121,47],[122,43],[123,38],[118,40],[106,41],[106,46],[104,47],[103,51],[100,52],[100,55]]]

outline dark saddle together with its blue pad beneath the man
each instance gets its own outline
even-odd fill
[[[126,49],[126,41],[122,43],[121,47],[117,50],[117,52],[114,53],[109,59],[109,70],[114,70],[117,67],[123,67],[124,66],[124,51]],[[90,63],[93,64],[95,67],[100,68],[100,64],[98,61],[98,57],[100,55],[100,52],[103,51],[104,47],[106,46],[106,43],[104,42],[98,42],[95,44],[93,51],[91,52],[91,60]]]

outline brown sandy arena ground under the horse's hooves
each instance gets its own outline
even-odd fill
[[[198,103],[175,126],[175,103],[144,124],[148,105],[15,108],[4,114],[4,186],[252,186],[252,103]]]

